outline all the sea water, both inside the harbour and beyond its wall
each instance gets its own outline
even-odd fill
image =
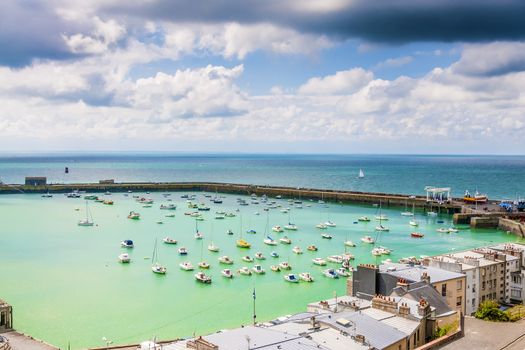
[[[69,174],[64,167],[69,167]],[[365,179],[357,179],[359,169]],[[4,183],[21,183],[25,176],[47,176],[51,182],[92,182],[114,178],[116,181],[224,181],[298,187],[319,187],[359,191],[423,194],[426,185],[451,186],[460,195],[464,189],[487,193],[494,198],[515,198],[523,190],[525,159],[521,157],[466,156],[334,156],[334,155],[16,155],[0,160]],[[457,192],[454,189],[458,189]],[[210,208],[204,220],[186,215],[184,195],[195,195],[194,203]],[[315,257],[350,253],[352,265],[397,261],[402,257],[442,254],[499,242],[517,242],[514,235],[492,229],[474,230],[458,227],[455,233],[440,233],[438,228],[452,226],[446,214],[428,216],[416,210],[419,227],[408,224],[400,215],[405,207],[381,208],[388,217],[382,224],[390,231],[378,233],[374,219],[379,208],[373,205],[318,203],[289,198],[275,199],[277,208],[265,211],[265,203],[253,203],[247,196],[216,193],[99,193],[112,200],[105,205],[82,198],[55,194],[0,195],[0,298],[14,307],[15,328],[62,349],[83,349],[113,344],[133,344],[151,339],[175,339],[208,334],[221,329],[251,324],[255,303],[258,321],[306,310],[310,302],[326,300],[346,292],[346,279],[330,279],[312,263]],[[222,196],[223,203],[210,198]],[[135,196],[151,198],[144,207]],[[242,197],[249,205],[241,206]],[[161,204],[175,204],[175,211],[160,209]],[[283,209],[289,208],[288,212]],[[408,208],[410,210],[410,208]],[[140,220],[130,220],[130,211],[139,212]],[[231,212],[234,217],[216,219],[216,212]],[[175,214],[174,216],[167,216]],[[94,226],[80,227],[78,221],[92,217]],[[359,222],[368,216],[368,223]],[[316,225],[336,223],[326,230]],[[161,222],[161,223],[159,223]],[[276,233],[275,225],[288,223],[297,231]],[[234,232],[227,234],[228,230]],[[248,231],[255,233],[248,233]],[[410,237],[414,230],[421,239]],[[195,232],[204,235],[195,239]],[[328,233],[332,239],[324,239]],[[291,245],[268,246],[268,236],[283,236]],[[369,235],[378,245],[392,250],[390,255],[375,257],[372,246],[361,238]],[[178,240],[177,245],[162,242],[164,237]],[[243,238],[252,244],[249,250],[236,247]],[[133,249],[122,248],[125,239],[134,241]],[[355,247],[345,247],[352,240]],[[220,252],[207,249],[219,246]],[[316,245],[317,252],[307,251]],[[186,247],[187,256],[177,249]],[[294,254],[299,246],[303,254]],[[166,275],[152,273],[153,250],[158,262],[168,269]],[[279,258],[270,257],[275,251]],[[128,252],[130,264],[118,262],[118,255]],[[262,252],[266,259],[254,263],[242,257]],[[234,259],[231,266],[220,265],[218,257]],[[210,285],[195,281],[196,271],[183,271],[179,264],[197,265],[205,260],[211,268]],[[310,272],[315,281],[292,284],[285,272],[273,272],[271,265],[288,261],[288,273]],[[260,264],[264,275],[236,275],[226,279],[221,269],[234,272],[242,266]],[[254,290],[256,299],[254,300]]]

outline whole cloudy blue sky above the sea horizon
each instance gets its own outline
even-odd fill
[[[522,0],[2,0],[0,152],[525,154]]]

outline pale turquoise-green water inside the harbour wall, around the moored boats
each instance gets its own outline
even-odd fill
[[[223,204],[213,204],[202,193],[197,193],[196,202],[211,207],[209,212],[202,212],[205,220],[199,222],[199,230],[204,240],[198,241],[194,239],[195,220],[184,215],[190,209],[180,195],[172,193],[168,197],[178,206],[174,218],[165,217],[169,212],[159,209],[161,203],[168,203],[161,193],[147,195],[155,200],[151,208],[143,208],[124,194],[104,196],[113,199],[115,204],[89,202],[94,227],[77,226],[77,221],[85,215],[82,199],[68,199],[63,195],[53,198],[24,194],[0,196],[0,296],[14,306],[15,327],[62,348],[70,343],[73,349],[102,346],[102,337],[114,343],[132,343],[154,336],[172,339],[203,334],[250,323],[254,287],[261,321],[304,311],[308,302],[330,298],[334,292],[344,293],[345,280],[325,278],[321,275],[322,268],[313,265],[311,260],[343,253],[343,241],[347,237],[357,243],[357,247],[348,248],[356,257],[354,266],[386,258],[397,260],[516,241],[514,236],[496,230],[462,229],[458,233],[440,234],[436,229],[448,227],[451,217],[427,217],[422,213],[417,213],[420,221],[417,230],[425,237],[414,239],[409,236],[413,231],[408,225],[409,218],[400,215],[404,208],[384,209],[383,213],[389,217],[385,225],[390,232],[377,235],[374,220],[354,224],[359,216],[374,217],[377,208],[373,206],[305,201],[303,208],[298,209],[285,199],[278,200],[283,207],[292,207],[289,214],[284,214],[279,209],[265,212],[263,204],[238,206],[237,196],[233,195],[226,195]],[[141,220],[127,219],[131,210],[139,211]],[[217,210],[233,211],[237,216],[216,220]],[[157,224],[158,220],[164,224]],[[284,226],[289,220],[297,224],[296,232],[270,233],[275,239],[288,235],[292,245],[264,245],[267,220],[270,227]],[[332,240],[321,239],[321,231],[314,227],[327,220],[337,223],[337,227],[326,230],[333,235]],[[227,235],[228,229],[235,235]],[[239,232],[249,229],[257,231],[243,235],[252,243],[252,249],[237,248],[235,241]],[[373,257],[372,247],[360,241],[366,234],[377,237],[379,244],[393,249],[393,253],[389,257]],[[177,239],[179,244],[169,246],[159,242],[160,262],[168,268],[165,276],[159,276],[151,272],[151,260],[144,258],[151,256],[155,239],[165,236]],[[135,242],[135,248],[129,251],[133,259],[129,265],[117,262],[118,254],[124,251],[120,247],[123,239]],[[221,248],[219,253],[206,249],[210,241]],[[306,251],[309,244],[316,244],[319,251]],[[291,249],[295,245],[301,246],[304,254],[293,254]],[[187,257],[177,254],[180,246],[189,249]],[[272,250],[281,257],[271,258]],[[232,269],[237,270],[253,265],[242,262],[241,257],[253,256],[257,251],[267,257],[261,262],[266,275],[236,276],[233,280],[221,277],[220,270],[224,267],[218,264],[219,256],[234,258]],[[198,284],[193,278],[194,272],[182,271],[178,266],[183,260],[196,265],[201,254],[212,264],[211,285]],[[270,265],[283,260],[290,261],[292,272],[311,272],[315,282],[285,282],[282,272],[269,269]]]

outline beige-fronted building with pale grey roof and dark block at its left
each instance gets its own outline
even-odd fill
[[[371,299],[376,294],[390,295],[399,280],[430,284],[452,309],[465,313],[465,275],[430,266],[388,263],[362,264],[354,272],[349,294]],[[350,283],[350,282],[349,282]]]

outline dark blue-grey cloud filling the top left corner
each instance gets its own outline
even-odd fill
[[[29,0],[0,1],[0,65],[72,57],[61,34],[68,27],[51,8]]]

